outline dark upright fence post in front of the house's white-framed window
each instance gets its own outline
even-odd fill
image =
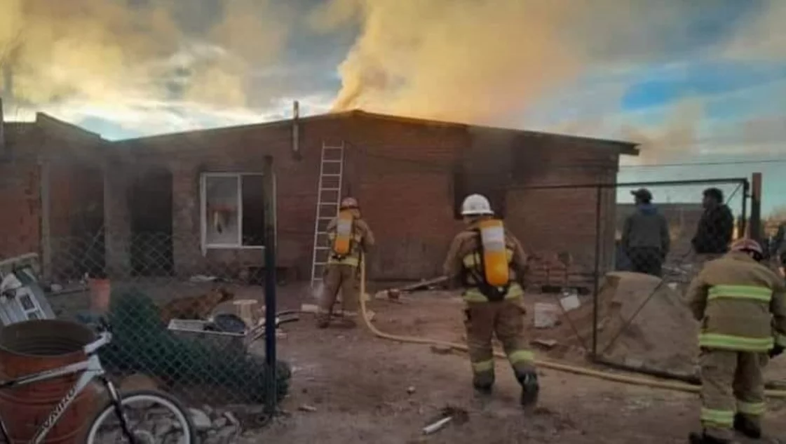
[[[265,196],[265,410],[268,417],[276,413],[276,230],[274,207],[273,157],[265,156],[263,166]]]

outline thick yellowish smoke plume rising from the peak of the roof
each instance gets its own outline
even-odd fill
[[[783,3],[770,9],[784,9]],[[340,65],[334,110],[496,123],[591,68],[625,70],[725,45],[688,44],[696,29],[686,17],[714,6],[707,0],[331,0],[314,12],[312,24],[361,28]],[[744,36],[755,39],[761,35],[752,28],[776,21],[761,18]]]

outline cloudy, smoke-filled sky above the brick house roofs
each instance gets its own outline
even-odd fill
[[[784,22],[782,0],[0,0],[0,91],[6,116],[112,140],[284,119],[293,100],[630,140],[619,182],[760,171],[770,211]]]

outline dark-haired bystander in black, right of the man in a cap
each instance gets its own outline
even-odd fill
[[[702,206],[704,213],[691,240],[693,250],[699,255],[725,254],[732,241],[734,216],[723,204],[723,192],[717,188],[705,189]]]

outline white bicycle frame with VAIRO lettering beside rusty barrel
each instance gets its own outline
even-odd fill
[[[100,378],[105,387],[107,387],[107,391],[110,399],[112,399],[112,402],[119,402],[119,395],[115,389],[115,386],[104,377],[106,371],[101,365],[101,360],[96,354],[96,350],[98,348],[102,347],[108,343],[109,340],[111,340],[109,338],[111,338],[111,336],[106,334],[102,335],[101,339],[98,339],[96,342],[84,347],[85,353],[87,354],[87,359],[85,361],[66,365],[60,369],[36,372],[31,375],[21,376],[15,380],[8,380],[0,383],[0,391],[2,391],[13,387],[24,387],[26,385],[30,385],[31,383],[53,380],[54,378],[58,378],[60,376],[69,376],[79,372],[82,373],[82,375],[79,376],[79,380],[76,381],[74,386],[71,387],[71,389],[68,391],[68,393],[65,394],[61,401],[54,406],[50,416],[46,418],[43,424],[41,424],[41,427],[39,427],[39,430],[35,432],[35,435],[30,441],[31,444],[40,444],[43,442],[44,438],[46,438],[46,435],[49,434],[49,432],[52,430],[52,427],[54,427],[54,424],[57,424],[57,420],[60,420],[60,417],[65,412],[65,409],[68,409],[68,406],[74,402],[76,397],[79,396],[79,394],[82,393],[88,386],[88,384],[90,384],[96,378]],[[2,436],[6,439],[6,442],[11,442],[11,439],[8,435],[8,429],[6,428],[6,423],[2,420],[2,418],[0,418],[0,431],[2,431]]]

